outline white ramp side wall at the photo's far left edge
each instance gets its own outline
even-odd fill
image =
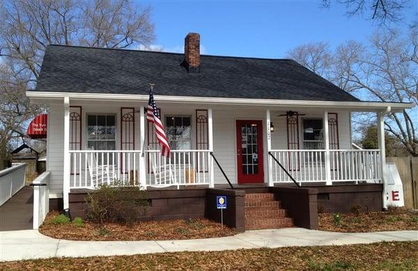
[[[24,187],[26,164],[13,164],[0,171],[0,206]]]

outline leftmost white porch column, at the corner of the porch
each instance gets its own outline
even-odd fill
[[[63,207],[70,207],[70,98],[64,97],[64,161],[63,161]]]

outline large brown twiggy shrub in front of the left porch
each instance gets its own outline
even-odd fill
[[[87,216],[91,221],[104,223],[132,223],[149,205],[146,191],[139,187],[102,185],[100,189],[88,193]]]

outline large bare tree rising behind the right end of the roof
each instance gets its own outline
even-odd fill
[[[323,72],[331,82],[363,100],[415,104],[414,109],[392,113],[385,120],[385,130],[413,156],[418,156],[417,44],[414,28],[409,35],[394,30],[381,31],[371,37],[368,45],[348,41],[337,47],[328,71]],[[292,52],[288,55],[295,56]],[[295,60],[310,68],[311,65],[304,64],[305,59]],[[370,114],[356,118],[362,125],[376,123],[376,118]]]

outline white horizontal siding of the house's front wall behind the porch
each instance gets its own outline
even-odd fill
[[[128,104],[92,104],[71,102],[70,105],[82,106],[82,149],[86,148],[86,115],[87,114],[115,114],[116,115],[116,149],[121,148],[120,134],[121,134],[121,107],[132,107]],[[63,105],[51,104],[49,106],[48,116],[48,142],[47,142],[47,170],[51,171],[50,176],[50,191],[51,194],[61,194],[63,189]],[[139,104],[134,107],[139,110]],[[162,118],[165,122],[167,115],[183,115],[191,116],[192,123],[192,149],[196,148],[196,109],[206,109],[207,106],[192,106],[192,105],[173,105],[162,104]],[[231,109],[232,108],[232,109]],[[240,107],[237,107],[240,108]],[[286,117],[279,117],[277,115],[284,114],[286,111],[271,110],[271,121],[274,123],[274,133],[272,133],[272,148],[286,149],[287,148],[287,127]],[[290,110],[290,109],[289,109]],[[294,110],[294,109],[293,109]],[[294,110],[296,111],[296,110]],[[323,111],[302,111],[298,110],[300,114],[306,114],[306,118],[322,118]],[[341,149],[350,149],[350,112],[349,111],[334,111],[338,113],[339,121],[339,144]],[[237,183],[237,160],[236,160],[236,120],[260,120],[263,121],[263,133],[265,133],[265,109],[233,109],[233,107],[213,108],[213,139],[214,139],[214,154],[222,164],[226,175],[233,183]],[[300,148],[302,148],[302,120],[299,121],[300,131]],[[147,140],[147,139],[146,139]],[[147,142],[147,141],[146,141]],[[267,143],[265,141],[265,134],[263,134],[264,144],[264,178],[267,180]],[[139,143],[139,114],[135,114],[135,149],[141,149]],[[226,184],[224,176],[215,164],[215,184]]]

